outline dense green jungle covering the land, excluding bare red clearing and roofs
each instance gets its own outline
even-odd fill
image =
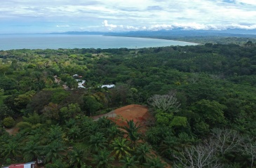
[[[86,80],[78,88],[76,78]],[[99,87],[114,84],[114,88]],[[67,87],[63,88],[63,85]],[[0,163],[256,167],[256,44],[0,51]],[[90,116],[149,107],[147,130]],[[4,127],[5,128],[4,128]],[[8,134],[6,128],[19,128]]]

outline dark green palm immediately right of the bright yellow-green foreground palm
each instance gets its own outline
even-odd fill
[[[144,164],[150,158],[153,158],[153,154],[151,154],[151,146],[148,144],[141,144],[135,148],[135,158],[140,162],[140,165]]]

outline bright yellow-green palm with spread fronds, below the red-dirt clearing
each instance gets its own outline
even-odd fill
[[[117,138],[112,142],[112,148],[114,148],[114,155],[121,160],[122,156],[130,155],[132,151],[129,147],[130,143],[127,139]]]

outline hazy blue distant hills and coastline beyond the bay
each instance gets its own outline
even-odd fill
[[[194,43],[235,43],[241,45],[248,41],[256,42],[256,29],[226,29],[226,30],[186,30],[171,29],[160,31],[126,31],[126,32],[100,32],[100,31],[68,31],[53,34],[84,34],[105,36],[130,36],[142,38],[162,38],[176,41]]]

